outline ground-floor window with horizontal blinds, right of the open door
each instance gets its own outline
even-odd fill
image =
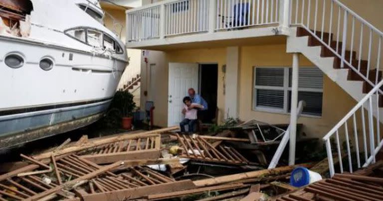
[[[291,68],[254,68],[255,110],[288,113],[291,107]],[[323,73],[299,68],[298,101],[306,101],[303,114],[322,115]]]

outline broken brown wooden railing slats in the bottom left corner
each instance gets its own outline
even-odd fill
[[[51,198],[64,197],[73,198],[72,194],[59,193],[64,186],[71,188],[78,184],[82,180],[86,180],[107,172],[110,168],[117,167],[119,164],[113,164],[113,166],[100,167],[90,161],[79,158],[76,155],[59,157],[54,161],[40,162],[32,158],[23,156],[37,166],[29,166],[30,171],[39,172],[39,169],[46,169],[49,163],[52,162],[54,171],[52,174],[46,174],[40,172],[33,175],[22,174],[23,170],[19,170],[19,174],[8,174],[1,177],[0,181],[0,200],[38,200],[45,196]],[[66,181],[66,182],[65,182]],[[58,193],[58,194],[56,194]],[[65,195],[69,195],[65,197]]]

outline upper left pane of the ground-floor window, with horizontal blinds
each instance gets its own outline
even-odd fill
[[[256,68],[255,85],[283,87],[283,68]]]

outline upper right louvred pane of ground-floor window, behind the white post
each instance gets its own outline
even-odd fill
[[[291,87],[291,72],[289,69],[289,87]],[[323,72],[315,68],[299,68],[299,88],[312,88],[322,89],[323,88]]]

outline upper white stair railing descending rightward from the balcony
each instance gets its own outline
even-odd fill
[[[339,0],[291,0],[289,9],[290,24],[304,27],[330,49],[341,68],[348,66],[372,86],[370,89],[379,83],[382,31]],[[380,89],[379,93],[383,94]]]

